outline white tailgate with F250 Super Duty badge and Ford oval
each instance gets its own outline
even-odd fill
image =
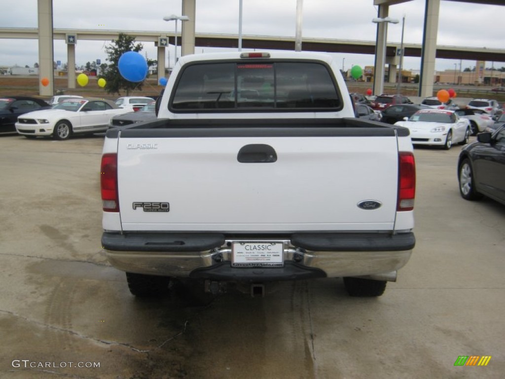
[[[122,228],[392,230],[398,191],[395,132],[355,129],[121,132]]]

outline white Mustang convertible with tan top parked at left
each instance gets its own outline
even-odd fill
[[[112,116],[129,111],[110,100],[70,99],[53,109],[25,113],[18,117],[15,125],[16,131],[27,138],[53,136],[67,139],[72,134],[105,131]]]

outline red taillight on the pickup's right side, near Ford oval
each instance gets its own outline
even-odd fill
[[[397,211],[412,211],[416,197],[416,162],[414,154],[398,155],[398,203]]]

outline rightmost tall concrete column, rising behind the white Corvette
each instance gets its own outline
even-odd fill
[[[426,0],[419,83],[419,96],[423,98],[433,96],[433,73],[435,72],[439,12],[440,0]]]

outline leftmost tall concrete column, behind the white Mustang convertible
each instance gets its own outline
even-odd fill
[[[55,75],[53,68],[53,0],[37,0],[38,15],[38,88],[40,96],[53,96]],[[43,86],[40,79],[49,79]]]

